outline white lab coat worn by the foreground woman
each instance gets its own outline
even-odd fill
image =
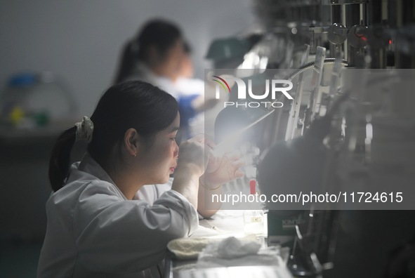
[[[37,277],[159,277],[167,243],[198,226],[195,207],[168,186],[127,200],[91,157],[73,164],[46,203]]]

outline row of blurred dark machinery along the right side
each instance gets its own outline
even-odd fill
[[[252,128],[261,192],[401,192],[403,198],[303,210],[268,204],[268,238],[294,236],[289,267],[298,277],[415,277],[415,2],[253,4],[262,29],[239,43],[216,41],[208,58],[216,55],[216,69],[235,69],[241,79],[294,84],[294,100],[282,96],[284,106],[264,109],[272,113]],[[220,55],[221,44],[232,51]],[[258,120],[253,109],[239,110],[226,107],[218,117],[230,122],[232,113],[239,120],[255,114],[245,125]],[[217,119],[216,137],[225,129]]]

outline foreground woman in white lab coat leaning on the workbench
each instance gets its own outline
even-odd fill
[[[203,138],[182,143],[179,153],[179,121],[171,95],[128,81],[105,92],[91,119],[60,135],[51,154],[54,193],[46,203],[39,278],[162,276],[166,244],[197,229],[198,194],[218,192],[214,183],[241,175],[237,164],[218,159],[207,173]],[[70,166],[77,140],[86,140],[88,152]],[[171,190],[159,190],[155,184],[169,183],[173,172]],[[144,185],[153,186],[138,194]],[[202,214],[214,213],[203,209],[199,202]]]

